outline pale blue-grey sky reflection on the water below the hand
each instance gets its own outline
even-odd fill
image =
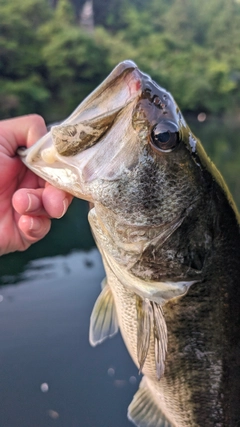
[[[103,277],[92,249],[33,260],[1,288],[1,427],[131,425],[139,377],[120,336],[88,343]]]

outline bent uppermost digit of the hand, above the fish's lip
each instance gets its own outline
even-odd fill
[[[6,154],[14,156],[18,147],[30,147],[47,132],[38,114],[0,121],[0,144]]]

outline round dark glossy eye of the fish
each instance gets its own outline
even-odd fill
[[[170,152],[180,142],[179,132],[174,123],[158,123],[151,132],[151,145],[159,151]]]

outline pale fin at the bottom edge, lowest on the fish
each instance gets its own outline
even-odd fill
[[[128,407],[128,419],[137,427],[172,427],[153,398],[144,377]]]

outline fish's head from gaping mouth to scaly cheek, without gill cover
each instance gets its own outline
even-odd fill
[[[19,154],[54,186],[147,224],[198,197],[198,145],[171,94],[129,60]]]

